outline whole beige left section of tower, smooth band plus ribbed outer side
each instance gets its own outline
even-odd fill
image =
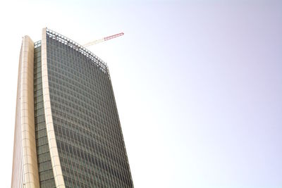
[[[23,37],[20,51],[12,187],[39,187],[33,96],[34,44]]]

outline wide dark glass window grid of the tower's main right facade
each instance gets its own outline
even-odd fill
[[[66,187],[133,187],[111,80],[47,37],[49,93]]]

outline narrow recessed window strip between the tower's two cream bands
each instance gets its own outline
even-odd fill
[[[56,187],[51,165],[49,144],[44,118],[41,74],[41,43],[35,42],[34,55],[34,101],[35,101],[35,139],[37,147],[37,164],[41,188]]]

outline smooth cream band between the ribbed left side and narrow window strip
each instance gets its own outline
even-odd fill
[[[35,144],[35,115],[33,92],[34,43],[23,37],[21,67],[21,126],[23,144],[23,172],[25,187],[39,187]]]

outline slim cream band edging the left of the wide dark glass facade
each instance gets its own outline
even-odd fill
[[[48,83],[48,69],[47,69],[47,35],[46,28],[42,29],[42,90],[43,90],[43,101],[44,101],[44,113],[47,129],[47,138],[51,156],[51,163],[54,173],[54,179],[57,188],[63,188],[65,182],[63,181],[63,173],[61,170],[61,163],[59,159],[58,148],[56,144],[56,137],[54,132],[54,124],[51,113],[51,103],[49,96],[49,83]]]

